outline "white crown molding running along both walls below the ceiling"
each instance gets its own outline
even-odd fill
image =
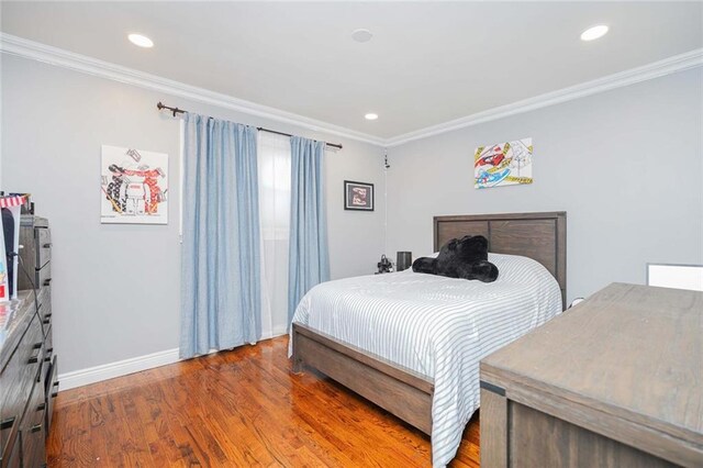
[[[471,125],[477,125],[498,119],[504,119],[511,115],[516,115],[536,109],[559,104],[561,102],[584,98],[587,96],[622,88],[640,81],[659,78],[677,71],[696,68],[703,65],[703,48],[698,48],[684,54],[665,58],[663,60],[655,62],[652,64],[632,68],[629,70],[621,71],[614,75],[609,75],[603,78],[598,78],[592,81],[587,81],[556,91],[550,91],[533,98],[524,99],[505,105],[500,105],[498,108],[489,109],[442,124],[432,125],[414,132],[404,133],[402,135],[393,136],[390,138],[382,138],[379,136],[356,132],[343,126],[298,115],[291,112],[282,111],[280,109],[269,108],[267,105],[237,99],[232,96],[210,91],[204,88],[198,88],[179,81],[170,80],[168,78],[161,78],[156,75],[146,74],[132,68],[111,64],[109,62],[100,60],[80,54],[75,54],[72,52],[13,36],[11,34],[0,33],[0,52],[77,70],[101,78],[108,78],[127,85],[138,86],[141,88],[164,92],[166,94],[180,97],[191,101],[202,102],[204,104],[211,104],[223,109],[243,112],[249,115],[256,115],[277,122],[288,123],[314,132],[342,136],[345,138],[356,140],[359,142],[386,147],[399,146],[415,140],[422,140],[429,136],[439,135],[442,133],[465,129]]]

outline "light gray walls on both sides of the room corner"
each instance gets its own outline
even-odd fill
[[[29,191],[54,227],[62,372],[178,346],[178,121],[158,100],[343,143],[326,158],[333,278],[383,252],[382,151],[22,58],[2,59],[0,188]],[[702,73],[685,71],[390,148],[388,253],[432,249],[437,214],[568,211],[568,296],[644,282],[645,263],[703,263]],[[476,146],[532,136],[535,183],[475,190]],[[169,224],[100,224],[100,145],[170,155]],[[342,209],[344,179],[376,183],[373,213]]]

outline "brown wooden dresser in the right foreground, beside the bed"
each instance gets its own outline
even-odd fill
[[[613,283],[481,361],[481,466],[703,467],[703,292]]]

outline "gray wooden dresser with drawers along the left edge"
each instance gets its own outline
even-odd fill
[[[20,250],[24,268],[18,281],[29,290],[0,304],[0,467],[46,465],[48,434],[58,390],[52,339],[51,239],[44,219],[22,216]],[[31,289],[32,283],[38,288]]]

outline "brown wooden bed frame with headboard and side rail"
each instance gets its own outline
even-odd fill
[[[554,275],[566,303],[567,214],[480,214],[434,218],[434,252],[447,241],[483,235],[489,250],[534,258]],[[432,433],[432,379],[300,323],[293,323],[293,372],[325,374],[425,434]]]

